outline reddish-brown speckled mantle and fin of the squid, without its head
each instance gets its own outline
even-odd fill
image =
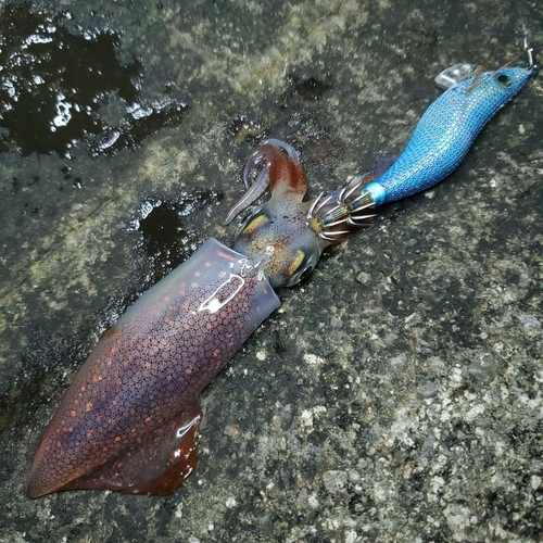
[[[279,305],[258,269],[209,239],[91,352],[41,437],[28,496],[175,492],[195,466],[200,392]]]

